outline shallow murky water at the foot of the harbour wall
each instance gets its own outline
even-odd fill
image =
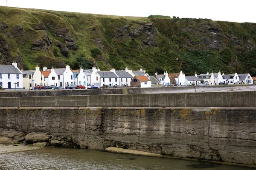
[[[48,147],[0,154],[0,170],[256,170],[169,158]]]

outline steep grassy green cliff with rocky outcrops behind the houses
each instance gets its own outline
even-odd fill
[[[256,24],[0,7],[0,64],[256,75]]]

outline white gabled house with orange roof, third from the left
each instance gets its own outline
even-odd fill
[[[44,70],[45,69],[44,67]],[[55,73],[55,69],[52,67],[52,69],[49,71],[42,71],[42,74],[44,76],[44,86],[47,85],[56,85],[58,86],[58,75]]]

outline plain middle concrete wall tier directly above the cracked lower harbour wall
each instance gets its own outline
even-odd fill
[[[255,107],[256,91],[1,97],[0,107]]]

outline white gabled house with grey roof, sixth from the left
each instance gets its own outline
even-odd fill
[[[99,74],[96,67],[93,67],[91,70],[83,70],[85,76],[87,77],[87,85],[94,85],[100,87]]]

